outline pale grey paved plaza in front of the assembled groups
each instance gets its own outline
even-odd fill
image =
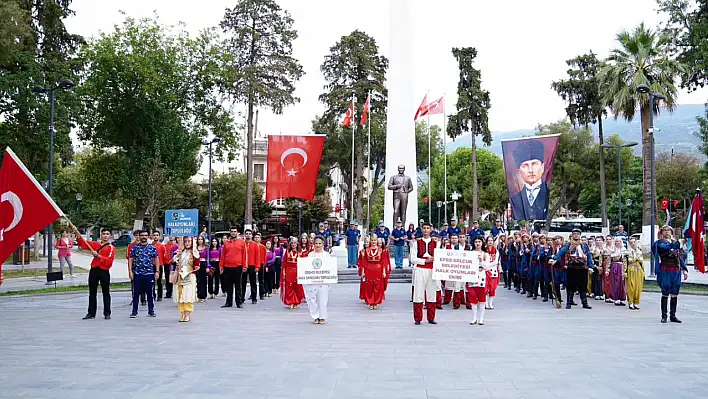
[[[2,297],[0,397],[708,397],[705,296],[681,298],[677,325],[659,323],[656,294],[637,312],[568,311],[500,290],[484,326],[447,307],[437,326],[414,326],[410,285],[392,284],[379,311],[357,295],[333,287],[324,326],[277,297],[197,304],[189,324],[171,301],[129,319],[127,292],[110,321],[81,320],[86,294]]]

